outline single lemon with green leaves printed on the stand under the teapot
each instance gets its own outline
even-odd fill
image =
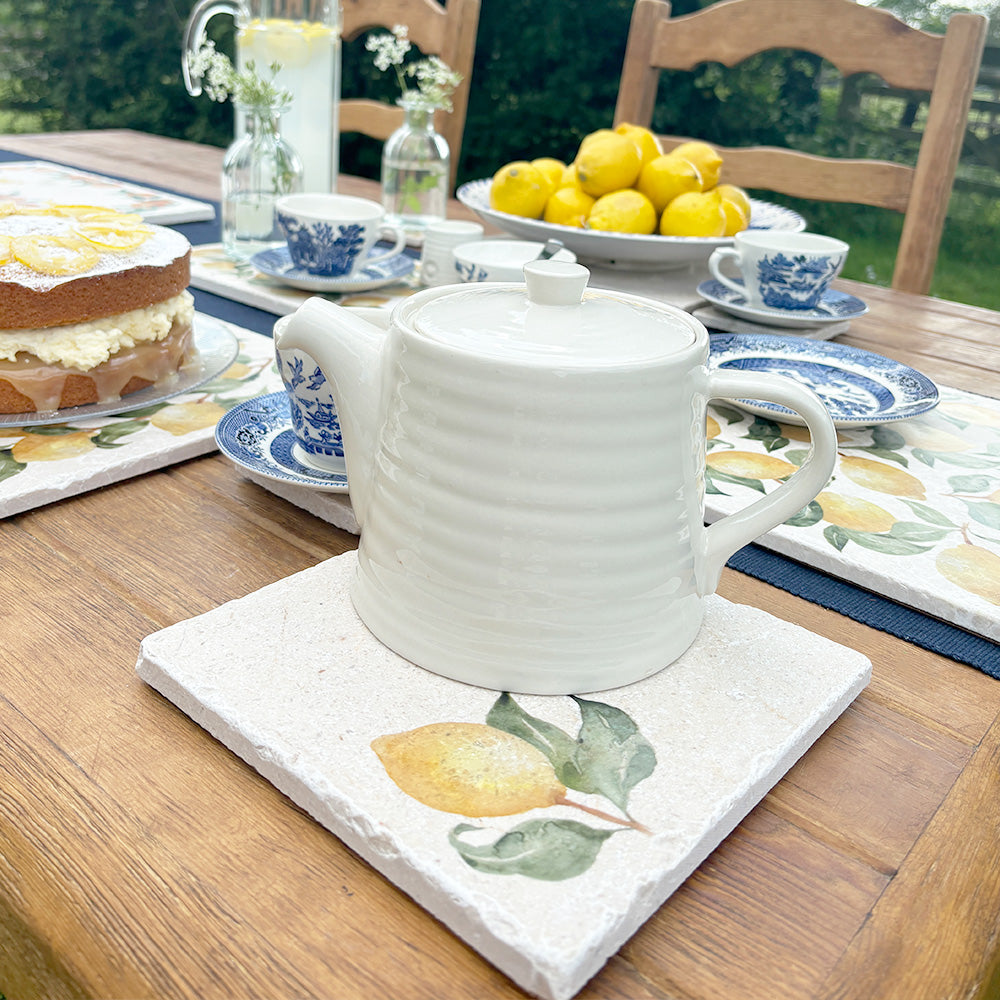
[[[629,813],[628,800],[653,773],[656,753],[621,709],[571,697],[580,712],[575,736],[503,693],[485,723],[431,723],[379,736],[371,747],[401,791],[441,812],[480,820],[559,807],[585,814],[590,822],[561,813],[534,816],[496,839],[492,825],[468,822],[448,835],[477,871],[549,882],[575,878],[616,833],[650,834]],[[599,796],[616,811],[580,796]]]

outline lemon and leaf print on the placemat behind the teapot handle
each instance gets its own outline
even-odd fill
[[[804,428],[710,409],[706,494],[766,493],[805,461]],[[785,526],[820,531],[838,552],[925,557],[1000,608],[1000,411],[942,390],[928,414],[839,431],[830,482]]]

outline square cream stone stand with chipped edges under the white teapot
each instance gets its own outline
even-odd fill
[[[549,1000],[598,972],[871,674],[860,653],[713,597],[695,644],[654,677],[580,698],[504,695],[438,677],[375,640],[347,596],[355,567],[345,553],[156,632],[138,674]],[[483,816],[474,793],[460,806],[435,798],[454,788],[426,758],[380,739],[420,727],[459,758],[456,733],[504,730],[508,749],[523,752],[506,754],[501,795],[505,781],[563,787],[557,772],[570,787],[556,804],[535,805],[542,793],[530,791],[501,816]],[[564,746],[581,748],[582,781],[527,742],[539,731],[550,746],[561,731]]]

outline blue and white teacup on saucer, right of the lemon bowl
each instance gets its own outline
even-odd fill
[[[756,308],[815,309],[849,249],[843,240],[818,233],[746,229],[736,234],[733,246],[712,251],[708,269]],[[736,263],[742,284],[722,273],[726,260]]]

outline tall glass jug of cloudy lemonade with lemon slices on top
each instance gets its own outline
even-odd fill
[[[187,53],[205,40],[216,14],[236,21],[236,64],[251,60],[258,71],[281,64],[275,82],[292,94],[281,116],[281,135],[302,158],[303,190],[335,191],[339,159],[340,3],[339,0],[198,0],[184,30],[184,83],[197,97],[200,84],[188,71]],[[236,134],[246,131],[237,109]]]

